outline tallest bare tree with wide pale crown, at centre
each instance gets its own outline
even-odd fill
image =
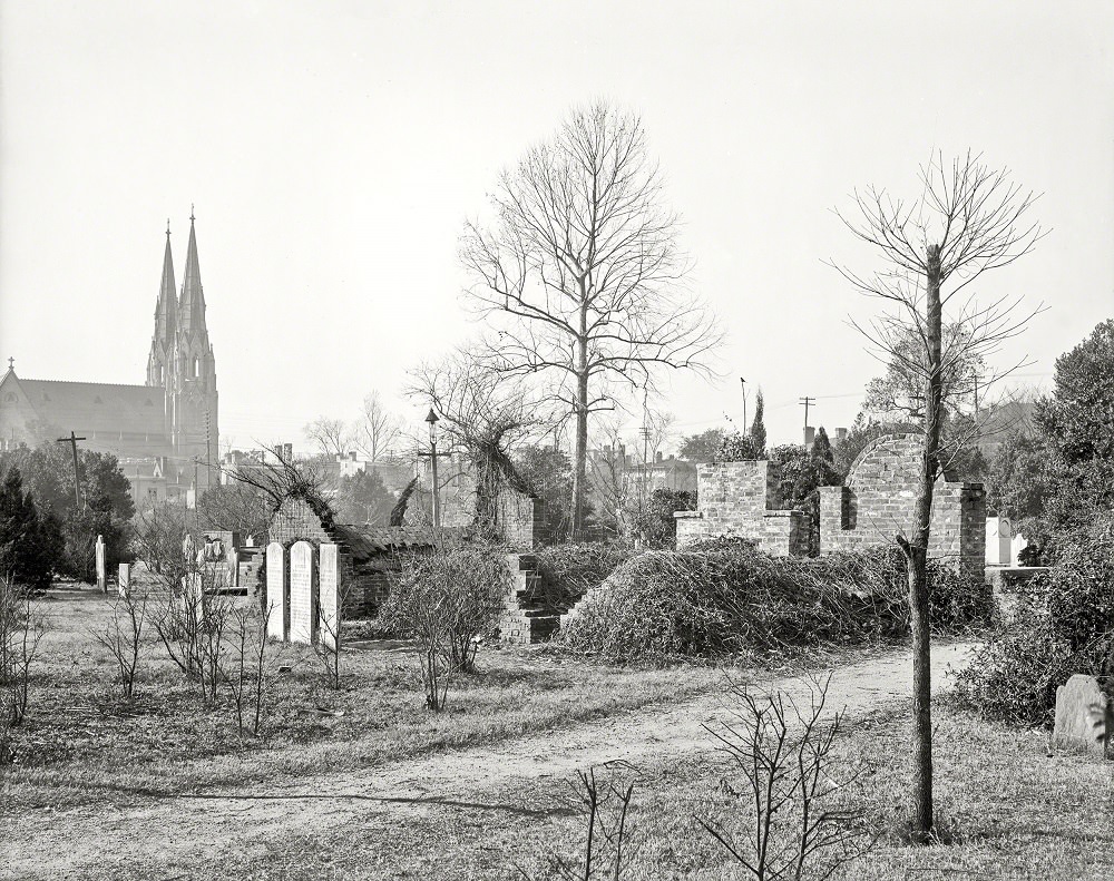
[[[584,525],[588,421],[608,385],[645,388],[664,368],[706,369],[721,334],[685,288],[677,216],[642,120],[606,104],[576,110],[505,172],[491,227],[466,226],[471,305],[498,321],[489,358],[544,375],[573,414],[573,534]]]

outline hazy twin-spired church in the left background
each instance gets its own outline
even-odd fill
[[[186,268],[176,291],[167,224],[146,382],[23,379],[9,359],[0,379],[0,446],[33,446],[74,432],[79,449],[119,458],[140,505],[219,482],[216,364],[192,212]]]

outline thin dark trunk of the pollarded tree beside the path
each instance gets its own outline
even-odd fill
[[[921,841],[932,831],[932,673],[929,621],[928,545],[932,526],[932,490],[939,472],[940,420],[944,398],[941,371],[942,309],[940,248],[928,248],[926,337],[928,378],[925,383],[925,451],[921,457],[913,535],[901,542],[909,575],[912,626],[913,694],[913,831]]]

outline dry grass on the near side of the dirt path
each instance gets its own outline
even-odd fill
[[[870,809],[881,840],[840,881],[980,879],[1105,881],[1114,878],[1114,766],[1078,755],[1046,756],[1042,733],[987,724],[941,707],[937,801],[950,842],[906,843],[908,780],[905,708],[861,718],[840,743],[844,757],[876,767]],[[615,772],[629,779],[626,770]],[[714,755],[637,769],[633,810],[638,849],[624,881],[720,881],[744,874],[693,820],[737,810]],[[362,819],[272,842],[264,856],[190,867],[190,878],[232,871],[244,879],[548,878],[546,854],[575,859],[583,822],[558,781],[518,781],[477,793],[475,804],[427,804],[420,818],[369,804]],[[517,865],[516,865],[517,864]]]

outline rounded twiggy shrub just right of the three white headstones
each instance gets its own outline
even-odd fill
[[[477,544],[411,554],[392,580],[380,627],[418,640],[426,704],[440,709],[450,677],[472,668],[477,637],[502,611],[510,587],[506,551]]]

